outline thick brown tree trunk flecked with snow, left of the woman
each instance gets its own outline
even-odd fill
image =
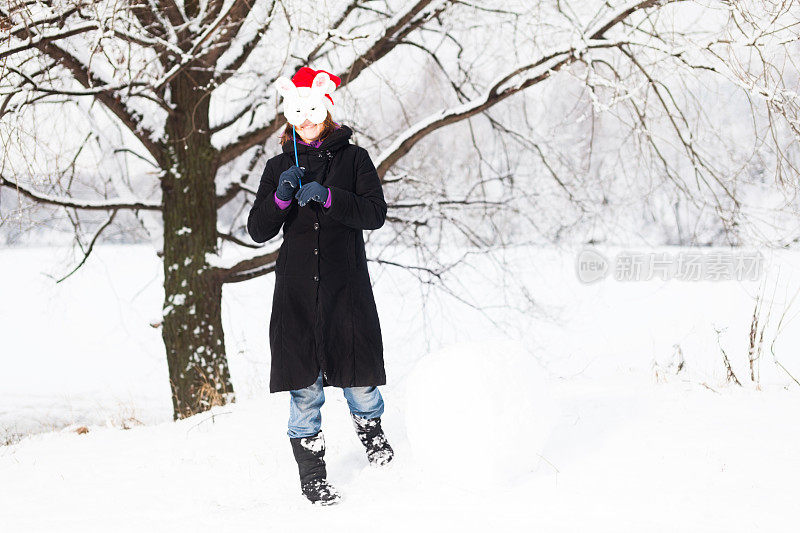
[[[173,416],[177,420],[234,400],[222,330],[222,283],[206,262],[217,246],[215,152],[202,76],[170,82],[161,180],[164,216],[164,321]]]

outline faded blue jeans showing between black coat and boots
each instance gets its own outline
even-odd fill
[[[319,433],[322,427],[320,408],[325,403],[322,388],[320,371],[313,385],[289,391],[289,437],[311,437]],[[344,387],[342,390],[347,406],[354,415],[377,418],[383,414],[383,397],[378,387]]]

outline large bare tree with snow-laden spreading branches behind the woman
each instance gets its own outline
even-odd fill
[[[491,158],[474,140],[472,118],[509,143],[498,152],[513,144],[512,151],[536,158],[542,179],[574,210],[571,221],[565,211],[555,217],[556,237],[603,204],[607,180],[581,187],[596,176],[600,117],[626,126],[620,143],[633,147],[643,174],[671,183],[687,202],[697,202],[704,189],[715,213],[737,222],[741,201],[733,182],[696,140],[707,119],[691,114],[700,89],[676,96],[682,82],[675,72],[716,76],[760,95],[772,146],[785,142],[777,130],[786,125],[796,141],[797,92],[787,85],[796,80],[797,55],[790,52],[797,10],[789,1],[709,4],[343,0],[312,16],[318,3],[286,0],[13,0],[0,7],[0,30],[8,36],[0,46],[0,185],[70,213],[77,242],[89,235],[81,264],[119,214],[135,215],[147,230],[163,255],[162,332],[174,416],[182,418],[234,397],[220,318],[223,285],[274,269],[277,247],[247,242],[243,214],[256,190],[250,178],[270,154],[266,143],[284,125],[271,89],[279,75],[313,65],[342,79],[340,90],[360,106],[352,109],[354,129],[379,154],[393,229],[381,252],[396,244],[420,251],[418,265],[380,252],[375,260],[435,282],[471,253],[437,263],[449,235],[487,250],[506,244],[501,226],[509,218],[540,224],[530,208],[536,198],[520,188],[530,182],[517,183],[511,161],[483,175]],[[716,19],[695,20],[698,13]],[[366,121],[375,111],[372,93],[359,84],[378,78],[395,90],[397,80],[380,79],[384,64],[405,79],[435,76],[448,94],[440,101],[398,98],[394,117],[384,121],[396,125],[389,131],[359,126],[359,113]],[[578,160],[559,153],[554,140],[533,138],[524,110],[513,126],[490,113],[517,111],[499,104],[529,88],[545,90],[548,80],[559,84],[556,92],[579,88],[556,102],[588,106],[589,119],[578,125],[587,128],[575,147]],[[88,132],[85,139],[54,134],[66,120],[67,130]],[[465,125],[481,164],[477,171],[459,168],[457,186],[446,187],[430,179],[421,157],[406,156],[421,156],[430,149],[423,139],[454,124]],[[781,176],[795,170],[787,153],[773,155]],[[98,163],[94,173],[79,164],[90,157]],[[122,168],[111,168],[108,161],[119,158]],[[598,191],[599,198],[589,194]],[[104,219],[86,224],[86,213]],[[221,213],[229,229],[221,227]],[[236,247],[238,259],[223,261],[223,246]]]

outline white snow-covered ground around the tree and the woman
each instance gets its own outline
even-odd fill
[[[3,532],[796,530],[800,254],[764,252],[755,281],[587,285],[578,250],[517,249],[505,261],[539,305],[524,313],[489,258],[451,280],[460,299],[493,306],[485,314],[437,293],[423,306],[413,278],[371,265],[397,455],[370,468],[341,392],[327,390],[326,459],[344,501],[319,509],[299,495],[288,393],[267,392],[272,278],[225,287],[239,401],[173,423],[150,326],[158,258],[102,246],[56,285],[64,253],[0,251]],[[760,285],[772,306],[755,384]],[[502,355],[509,342],[523,355]]]

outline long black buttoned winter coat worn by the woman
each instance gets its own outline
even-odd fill
[[[350,144],[342,125],[319,148],[297,143],[302,182],[331,189],[331,206],[296,199],[281,210],[274,200],[278,176],[294,165],[293,142],[267,161],[247,230],[265,242],[283,228],[275,263],[269,322],[270,392],[301,389],[316,381],[336,387],[383,385],[383,340],[372,293],[365,229],[386,219],[380,178],[367,151]],[[299,139],[299,137],[298,137]]]

